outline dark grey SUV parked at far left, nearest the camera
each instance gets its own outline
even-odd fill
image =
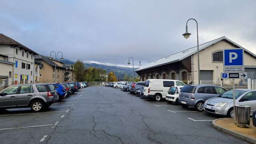
[[[14,85],[0,91],[0,109],[31,108],[40,112],[58,101],[57,91],[52,84]]]

